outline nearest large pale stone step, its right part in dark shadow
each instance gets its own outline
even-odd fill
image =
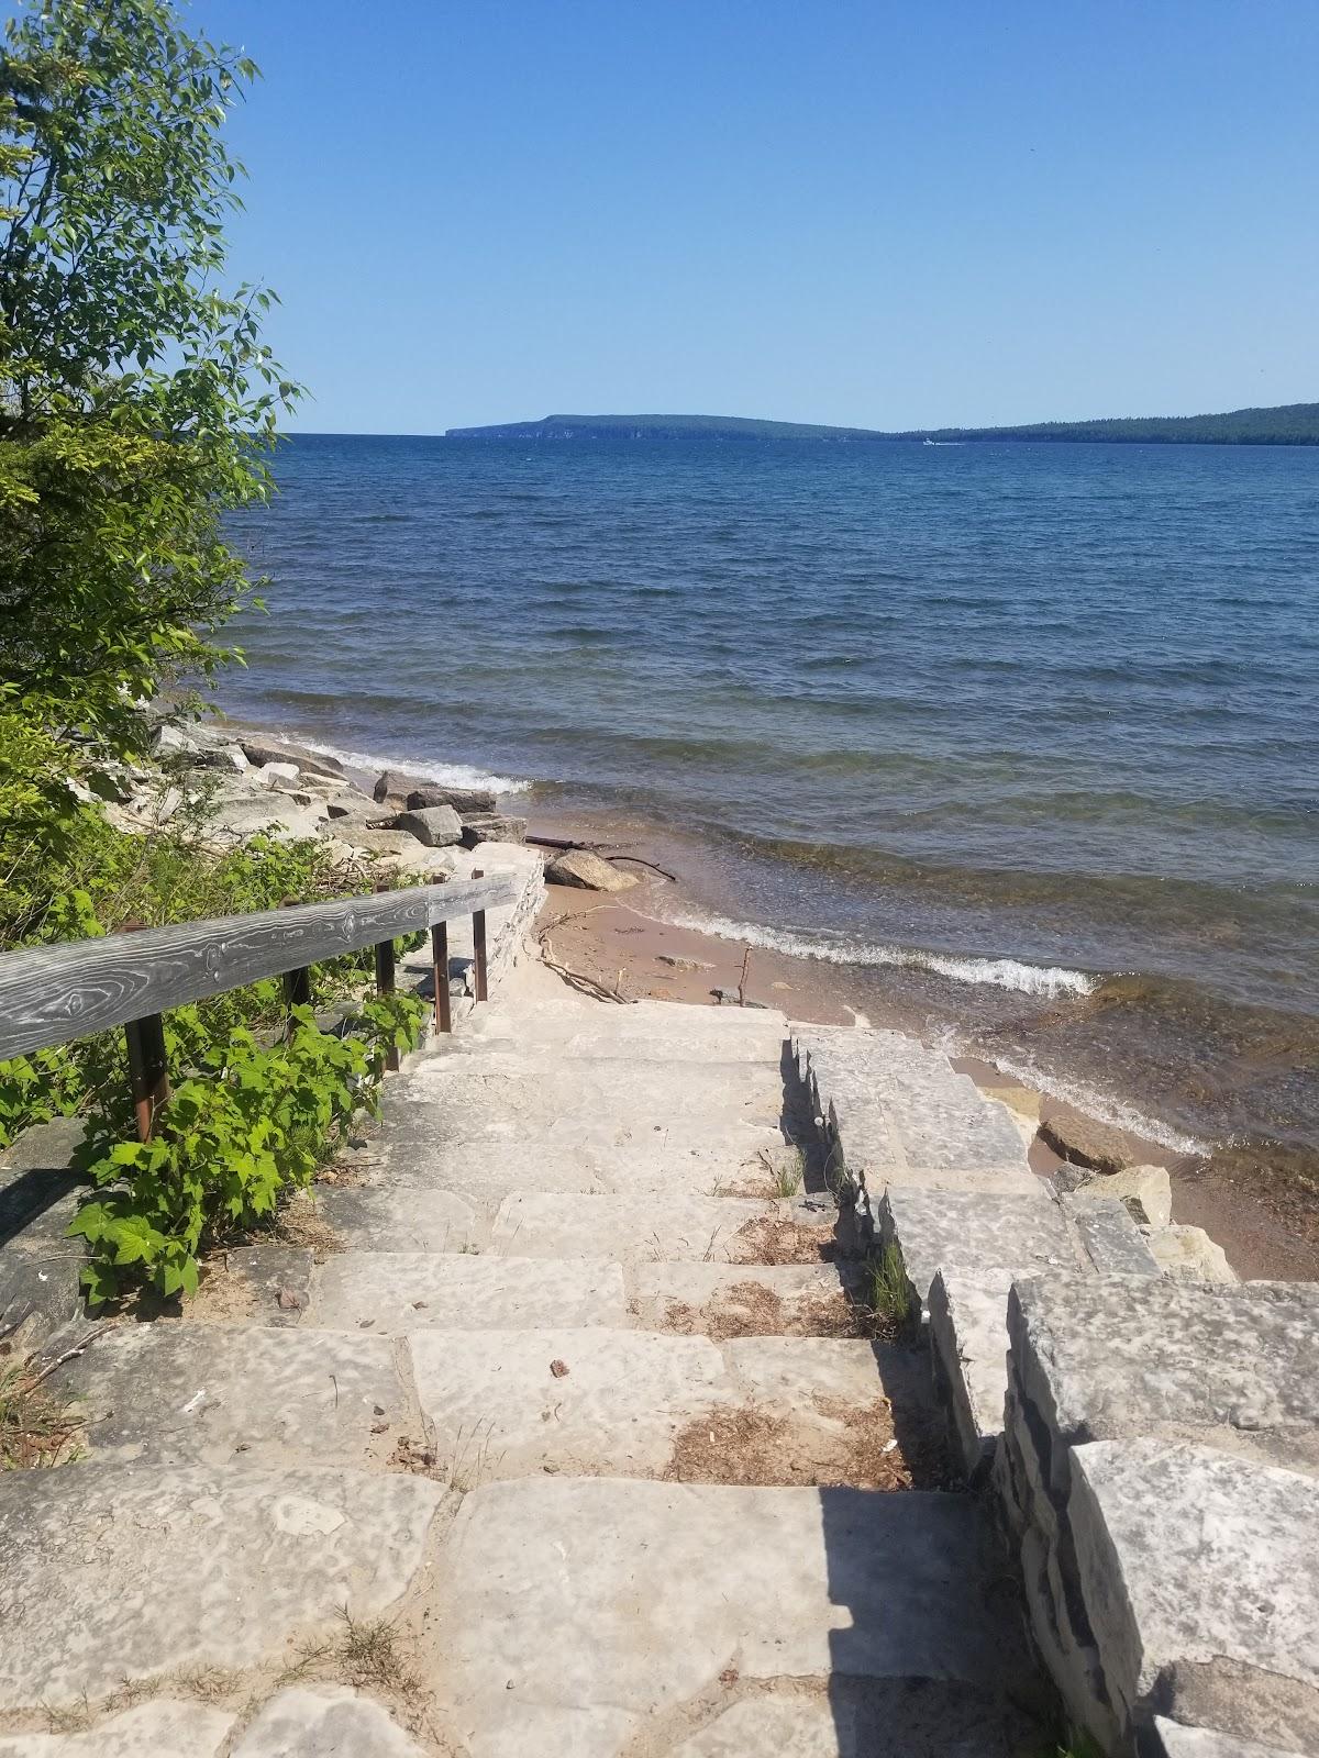
[[[983,1512],[951,1494],[529,1478],[463,1501],[436,1693],[470,1758],[1043,1749]],[[805,1707],[804,1707],[805,1705]],[[835,1714],[837,1707],[837,1714]],[[846,1726],[865,1730],[851,1744]],[[811,1744],[783,1744],[805,1730]]]

